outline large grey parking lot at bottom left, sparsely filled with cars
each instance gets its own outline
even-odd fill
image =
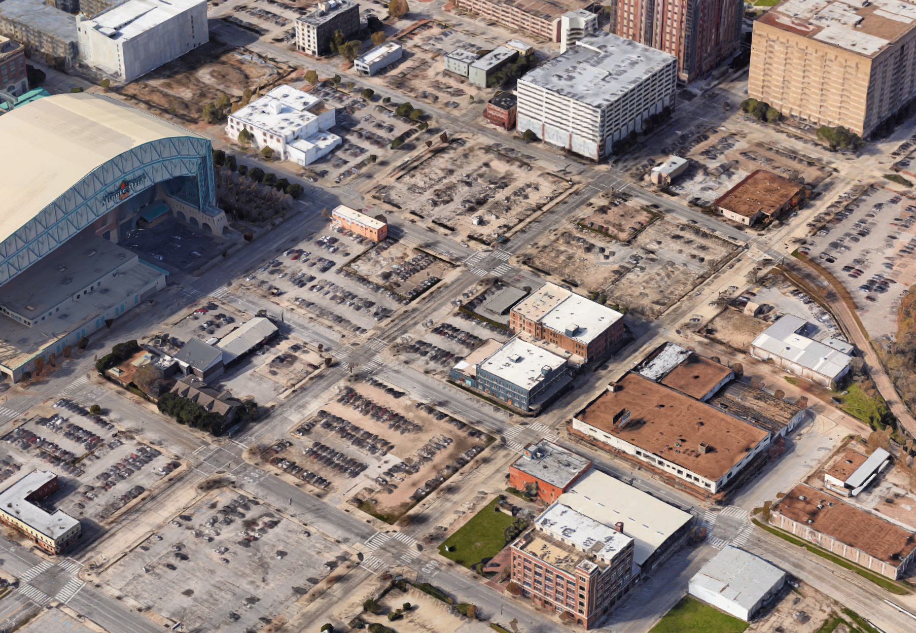
[[[348,553],[234,492],[214,491],[100,580],[183,630],[261,630]]]

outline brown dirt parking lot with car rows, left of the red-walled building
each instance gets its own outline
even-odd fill
[[[332,502],[356,495],[363,509],[390,521],[488,442],[483,432],[407,398],[385,371],[344,387],[290,431],[278,457],[296,464],[275,466],[327,490]]]

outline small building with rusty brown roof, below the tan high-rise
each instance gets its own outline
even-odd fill
[[[740,224],[757,224],[776,219],[804,201],[808,190],[764,169],[758,169],[715,201],[726,218]]]

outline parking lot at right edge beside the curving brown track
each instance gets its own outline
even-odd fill
[[[832,203],[819,220],[825,226],[799,252],[845,284],[869,334],[896,333],[900,296],[916,282],[916,201],[870,188]]]

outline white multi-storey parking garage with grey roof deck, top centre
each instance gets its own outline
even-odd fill
[[[518,80],[518,130],[598,161],[674,109],[676,57],[603,31]]]

